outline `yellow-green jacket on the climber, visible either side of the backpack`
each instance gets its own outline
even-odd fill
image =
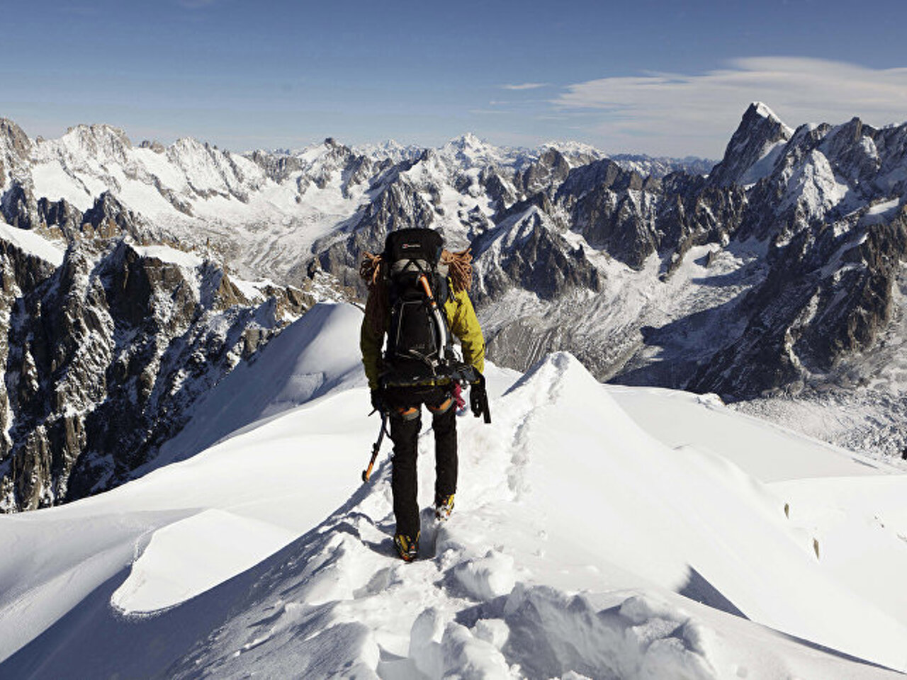
[[[450,282],[448,282],[450,286]],[[453,286],[450,286],[453,292]],[[366,316],[362,320],[362,330],[359,334],[359,348],[362,350],[362,364],[366,367],[366,378],[368,378],[369,388],[375,390],[378,385],[378,376],[381,374],[381,348],[385,344],[385,333],[389,319],[385,319],[384,327],[381,332],[375,332],[369,319],[369,306],[374,304],[372,296],[366,300]],[[452,296],[447,297],[444,302],[444,316],[447,317],[447,325],[450,326],[451,333],[460,338],[460,344],[463,349],[463,361],[467,364],[473,364],[479,373],[485,371],[485,339],[482,335],[482,328],[479,326],[479,319],[475,316],[473,302],[466,295],[465,290],[454,292]]]

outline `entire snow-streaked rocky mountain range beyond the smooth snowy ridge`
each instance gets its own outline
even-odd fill
[[[602,380],[715,392],[900,452],[905,156],[907,126],[794,130],[761,103],[717,164],[469,134],[440,149],[327,139],[236,154],[189,139],[136,146],[106,125],[32,140],[0,120],[3,503],[127,479],[179,428],[174,411],[254,353],[258,341],[243,350],[240,338],[290,320],[256,309],[298,316],[301,296],[361,295],[362,253],[409,226],[472,246],[500,364],[566,349]],[[159,244],[165,255],[142,250]],[[147,283],[129,288],[134,276]],[[270,283],[240,296],[243,279]],[[193,371],[205,376],[180,391]],[[110,426],[123,408],[122,428],[145,433]]]

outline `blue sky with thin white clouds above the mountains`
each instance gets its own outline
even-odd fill
[[[394,138],[716,158],[749,102],[907,120],[907,3],[3,0],[0,116],[235,151]]]

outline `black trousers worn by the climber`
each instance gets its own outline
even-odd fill
[[[453,403],[451,391],[442,387],[389,388],[385,401],[390,407],[391,440],[394,442],[391,489],[394,492],[396,532],[414,538],[419,533],[415,463],[419,432],[422,430],[422,404],[432,413],[434,428],[435,503],[456,491],[456,404]]]

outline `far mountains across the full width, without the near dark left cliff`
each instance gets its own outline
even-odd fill
[[[793,130],[755,102],[708,170],[471,135],[434,150],[328,139],[238,155],[190,140],[136,147],[106,126],[53,142],[8,121],[0,131],[4,215],[20,227],[194,243],[241,277],[301,285],[325,271],[360,294],[358,260],[389,230],[437,228],[473,248],[473,296],[501,364],[568,349],[600,379],[741,408],[858,399],[872,404],[852,423],[864,448],[907,444],[895,351],[907,348],[905,126]]]

